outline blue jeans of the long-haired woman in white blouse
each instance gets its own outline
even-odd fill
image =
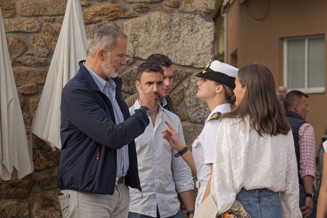
[[[242,188],[236,200],[244,206],[252,218],[283,218],[278,192],[266,188],[253,190]]]

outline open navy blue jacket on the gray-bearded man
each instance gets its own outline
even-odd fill
[[[61,154],[58,188],[112,195],[116,178],[116,150],[128,144],[129,169],[125,183],[141,190],[134,138],[141,135],[149,118],[141,110],[130,116],[123,100],[122,79],[115,98],[125,121],[115,124],[112,105],[80,61],[77,75],[62,90]]]

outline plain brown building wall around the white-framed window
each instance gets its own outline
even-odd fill
[[[249,62],[261,63],[272,71],[277,87],[284,85],[283,39],[315,35],[326,37],[326,8],[327,1],[323,0],[250,0],[247,5],[233,1],[227,11],[226,62],[237,67]],[[262,20],[254,19],[264,16]],[[315,129],[318,148],[327,127],[327,94],[324,91],[310,93],[309,96],[307,121]]]

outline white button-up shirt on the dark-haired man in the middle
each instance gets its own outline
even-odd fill
[[[136,101],[129,108],[131,115],[140,107]],[[177,192],[194,189],[190,167],[181,157],[174,157],[177,151],[162,138],[161,132],[168,128],[165,120],[175,128],[181,142],[185,143],[178,116],[159,105],[155,125],[150,119],[144,133],[135,139],[138,175],[144,197],[141,198],[137,189],[129,189],[130,212],[156,217],[158,205],[160,217],[172,216],[180,207]]]

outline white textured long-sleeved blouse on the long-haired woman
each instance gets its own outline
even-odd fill
[[[249,118],[222,120],[216,138],[211,195],[218,214],[228,210],[242,188],[280,192],[283,217],[302,217],[292,132],[261,137]]]

